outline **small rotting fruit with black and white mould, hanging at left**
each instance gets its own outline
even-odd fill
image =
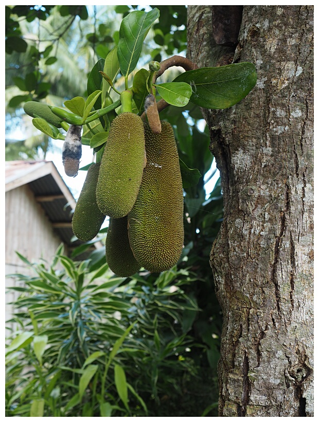
[[[65,174],[69,177],[76,177],[79,171],[82,156],[81,130],[82,126],[70,125],[65,135],[62,163]]]

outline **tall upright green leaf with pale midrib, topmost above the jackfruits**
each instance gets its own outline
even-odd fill
[[[117,58],[123,76],[127,77],[135,69],[143,41],[158,16],[160,16],[160,11],[157,8],[150,12],[135,10],[122,20]]]

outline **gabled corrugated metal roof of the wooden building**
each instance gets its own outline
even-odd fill
[[[71,239],[72,216],[76,201],[51,161],[7,161],[6,191],[28,184],[36,201],[42,206],[55,232],[68,248],[84,242]],[[100,247],[101,244],[95,244]],[[77,257],[77,259],[79,259]],[[83,256],[80,259],[84,259]]]

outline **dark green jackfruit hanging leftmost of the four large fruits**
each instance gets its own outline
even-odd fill
[[[72,218],[73,233],[84,242],[95,238],[105,220],[105,215],[100,212],[96,203],[99,168],[100,163],[91,164],[88,168]]]

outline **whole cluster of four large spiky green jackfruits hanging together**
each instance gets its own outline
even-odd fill
[[[101,163],[91,168],[73,218],[77,237],[91,240],[107,215],[105,257],[116,275],[176,265],[184,242],[184,199],[171,125],[161,121],[161,133],[154,133],[139,116],[118,115]]]

